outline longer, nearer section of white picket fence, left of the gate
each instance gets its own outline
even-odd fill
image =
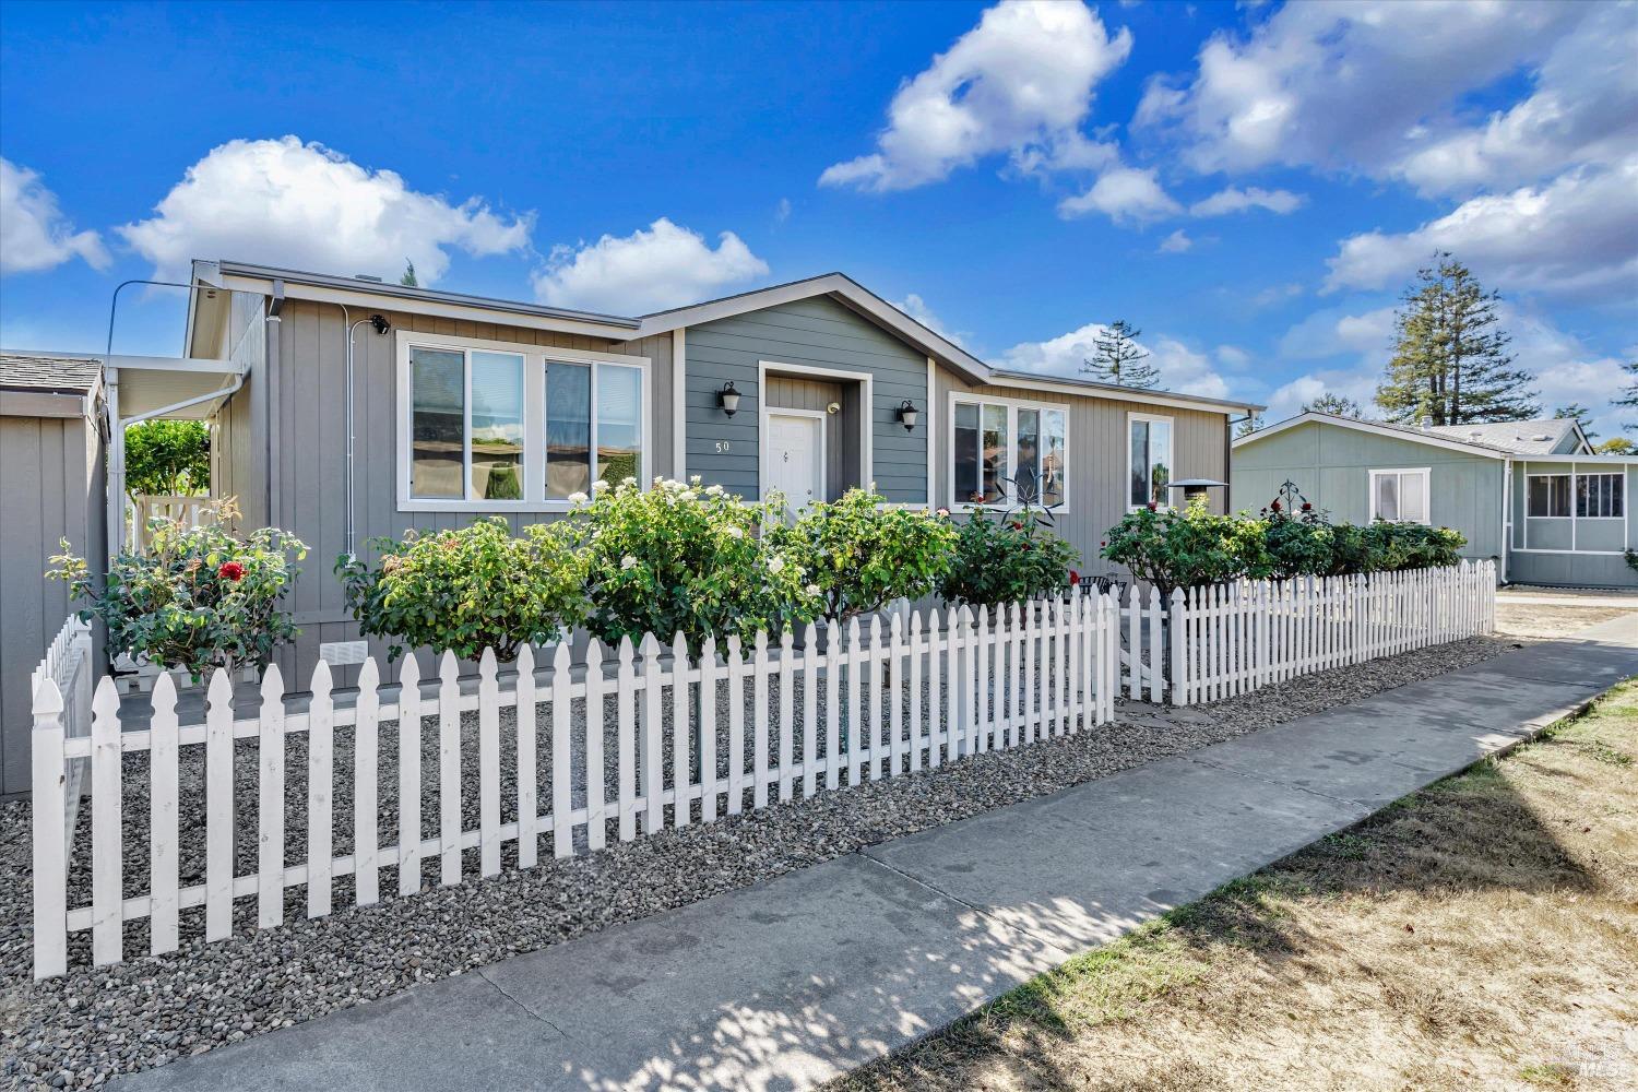
[[[165,673],[154,686],[152,714],[143,729],[121,724],[120,697],[103,679],[92,701],[88,738],[70,737],[66,696],[56,678],[43,678],[34,691],[33,733],[34,976],[64,972],[69,935],[82,930],[92,935],[92,961],[103,966],[123,958],[123,927],[133,920],[147,918],[149,950],[157,954],[177,948],[180,914],[192,907],[203,905],[205,940],[215,941],[231,933],[236,899],[254,897],[257,925],[270,928],[283,920],[288,887],[305,886],[306,915],[323,917],[333,909],[334,881],[346,876],[354,878],[355,902],[367,905],[380,897],[382,868],[396,868],[398,894],[410,896],[423,886],[423,861],[437,861],[442,884],[460,882],[462,853],[472,848],[478,851],[477,874],[495,876],[508,843],[516,843],[516,866],[531,868],[545,835],[554,856],[596,851],[609,837],[636,838],[639,825],[642,833],[688,825],[696,820],[695,805],[698,822],[709,824],[742,812],[747,794],[750,807],[760,809],[798,792],[811,797],[1078,732],[1114,715],[1115,619],[1114,596],[1078,594],[1006,607],[994,624],[984,612],[975,620],[962,607],[930,611],[925,620],[911,614],[907,625],[899,616],[886,627],[875,619],[868,637],[857,620],[826,625],[822,637],[812,625],[799,640],[785,634],[775,648],[760,634],[749,658],[737,639],[727,640],[722,657],[706,642],[701,655],[690,658],[681,637],[665,655],[649,635],[636,650],[622,640],[613,658],[593,642],[583,671],[572,665],[568,647],[559,645],[539,676],[534,653],[524,648],[509,679],[486,652],[475,691],[462,689],[455,658],[444,655],[431,696],[423,693],[421,666],[413,658],[401,665],[396,688],[380,686],[378,668],[367,660],[351,706],[336,702],[329,666],[319,663],[311,701],[300,712],[287,711],[283,681],[272,666],[260,681],[259,707],[247,715],[233,707],[231,683],[216,671],[203,724],[188,725],[179,724],[175,684]],[[613,748],[604,745],[608,699],[614,706]],[[501,820],[503,709],[514,711],[521,774],[537,771],[537,747],[550,748],[544,779],[514,778],[513,799],[506,801],[511,822]],[[475,763],[464,761],[462,751],[467,712],[477,714]],[[377,801],[383,722],[398,724],[388,753],[398,783],[391,845],[382,845]],[[421,771],[428,725],[437,740],[432,794],[423,791]],[[470,733],[468,724],[468,742]],[[285,755],[287,742],[303,735],[306,838],[305,848],[296,848],[285,838]],[[337,737],[352,750],[351,766],[341,769]],[[234,807],[236,740],[256,742],[254,828]],[[200,814],[192,814],[182,807],[179,766],[183,756],[197,763],[198,748],[203,799]],[[136,878],[146,871],[146,891],[128,896],[123,760],[134,753],[147,755],[149,853]],[[84,760],[92,769],[90,902],[70,907],[74,825],[62,774]],[[352,801],[352,851],[339,855],[333,845],[337,783]],[[475,825],[464,815],[464,787],[468,794],[477,789]],[[426,837],[423,807],[434,807],[432,796],[436,835]],[[182,830],[190,837],[203,832],[203,874],[188,878],[198,882],[182,882]],[[254,871],[236,869],[236,840],[256,846]],[[292,851],[305,860],[288,860]]]

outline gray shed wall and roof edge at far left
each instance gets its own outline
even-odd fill
[[[0,352],[0,796],[28,791],[28,678],[70,611],[46,558],[103,553],[103,481],[102,360]]]

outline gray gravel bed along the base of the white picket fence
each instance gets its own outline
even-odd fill
[[[514,868],[516,848],[508,843],[505,868],[511,871],[475,879],[477,851],[472,850],[464,882],[432,886],[437,876],[436,861],[431,861],[423,873],[429,886],[405,899],[393,896],[395,869],[382,869],[380,904],[349,905],[351,879],[337,881],[336,912],[316,920],[305,917],[305,889],[293,887],[287,891],[285,925],[270,930],[256,928],[254,899],[241,899],[234,907],[234,935],[210,945],[201,940],[203,909],[185,910],[182,945],[165,956],[141,954],[147,946],[147,927],[133,922],[124,932],[128,961],[110,968],[87,966],[88,933],[77,933],[70,940],[69,974],[46,982],[31,981],[29,807],[26,802],[5,804],[0,805],[0,1081],[8,1087],[95,1087],[113,1074],[161,1066],[387,997],[418,981],[462,974],[876,842],[1183,755],[1477,663],[1509,647],[1492,639],[1455,642],[1183,711],[1122,701],[1112,724],[1073,737],[988,751],[932,771],[867,781],[857,789],[819,792],[711,825],[673,827],[627,843],[611,840],[608,850],[593,855],[552,860],[545,840],[542,863],[527,871]],[[794,697],[799,709],[801,694]],[[423,774],[424,787],[436,794],[436,732],[431,729],[428,724],[423,735]],[[503,755],[511,732],[509,722],[503,725]],[[467,743],[475,748],[472,740]],[[798,738],[798,753],[799,745]],[[301,747],[292,738],[287,751],[287,799],[293,807],[301,807],[306,792]],[[337,769],[351,763],[349,747],[346,735],[337,732]],[[382,758],[390,758],[395,748],[396,725],[383,725]],[[549,773],[550,748],[541,751],[539,773]],[[726,742],[719,755],[726,756]],[[244,784],[238,792],[241,815],[254,822],[254,743],[242,742],[234,760]],[[138,763],[129,768],[138,774],[146,758],[133,755],[128,763]],[[183,814],[197,802],[198,773],[197,766],[183,763]],[[503,792],[509,794],[514,779],[516,768],[509,761],[503,769]],[[337,778],[337,853],[351,848],[346,781]],[[390,845],[396,842],[396,773],[390,773],[387,761],[378,792],[382,842]],[[581,778],[575,796],[583,799],[583,792]],[[549,797],[542,794],[542,799]],[[468,825],[475,825],[475,796],[462,804]],[[436,802],[429,797],[423,804],[424,837],[434,833],[436,815]],[[139,879],[147,861],[146,799],[128,797],[126,817],[131,824],[128,882],[136,892],[146,884]],[[503,814],[503,822],[509,817]],[[82,814],[80,822],[87,824],[88,817]],[[287,819],[292,860],[301,853],[303,824],[305,817],[296,814]],[[183,884],[203,874],[203,848],[197,832],[193,835],[182,846]],[[246,842],[251,845],[238,846],[241,873],[254,869],[254,840]],[[583,835],[577,842],[583,843]],[[84,828],[79,845],[88,845]],[[84,861],[77,858],[77,864],[70,905],[88,897]]]

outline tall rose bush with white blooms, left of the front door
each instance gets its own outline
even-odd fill
[[[626,478],[575,499],[562,527],[586,566],[586,627],[601,640],[681,634],[698,648],[706,637],[773,635],[822,609],[806,560],[763,537],[781,524],[780,496],[758,504],[699,478],[657,478],[652,490]]]

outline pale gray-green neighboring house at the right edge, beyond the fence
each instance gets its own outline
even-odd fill
[[[1235,504],[1292,481],[1333,519],[1453,527],[1502,581],[1631,588],[1638,457],[1595,455],[1574,421],[1414,427],[1305,413],[1233,442]]]

